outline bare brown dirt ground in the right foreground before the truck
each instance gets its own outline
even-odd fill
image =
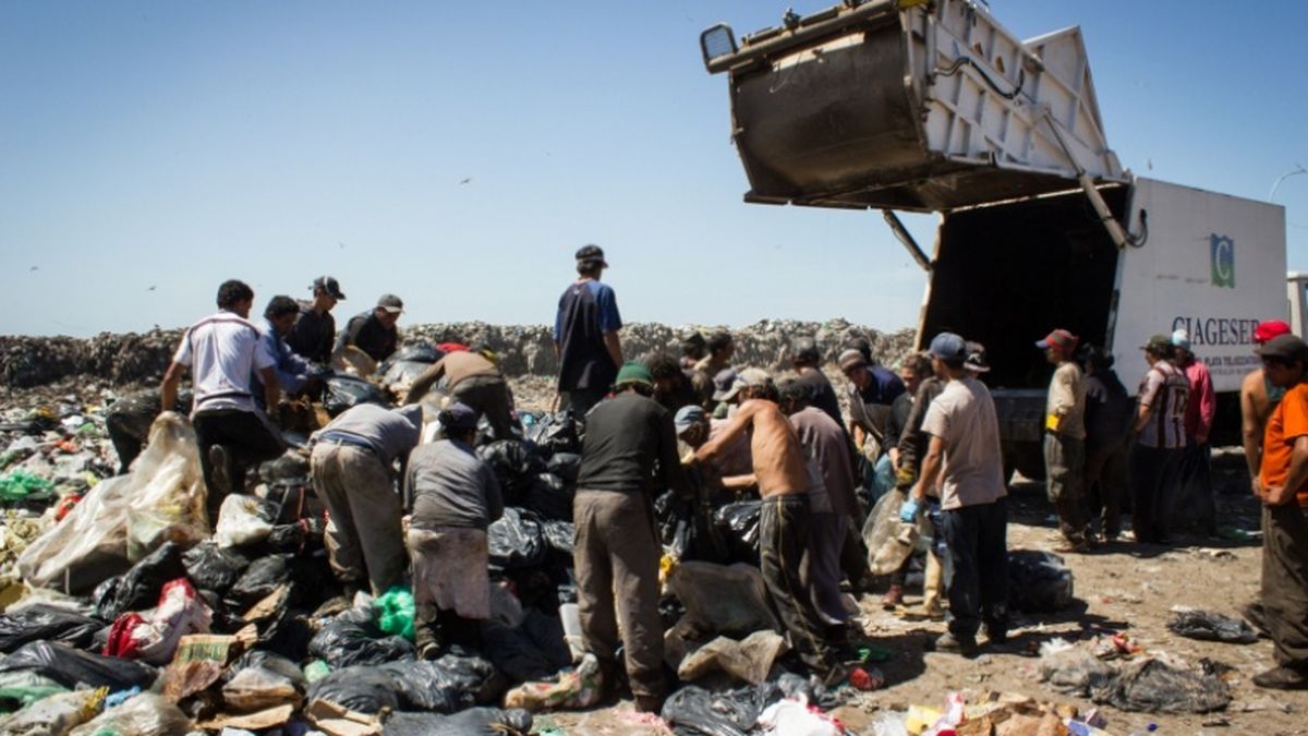
[[[910,705],[942,707],[951,691],[1019,693],[1039,701],[1074,705],[1082,711],[1096,707],[1088,701],[1061,695],[1039,678],[1042,642],[1057,636],[1088,638],[1103,631],[1125,631],[1146,652],[1169,652],[1188,661],[1211,657],[1235,668],[1231,680],[1233,702],[1226,711],[1206,715],[1151,715],[1097,706],[1114,735],[1155,733],[1305,733],[1308,691],[1282,693],[1256,688],[1250,677],[1273,665],[1271,643],[1223,644],[1177,636],[1167,630],[1173,605],[1202,608],[1239,616],[1237,608],[1258,593],[1261,540],[1258,504],[1248,494],[1244,461],[1239,449],[1218,452],[1215,482],[1219,495],[1220,538],[1181,536],[1163,547],[1118,542],[1090,554],[1065,555],[1075,578],[1076,602],[1048,617],[1019,617],[1006,646],[984,647],[968,660],[927,651],[944,631],[943,623],[912,622],[882,610],[879,593],[861,596],[861,622],[869,636],[893,656],[879,667],[887,686],[854,694],[833,714],[852,733],[871,733],[871,722],[882,710],[905,710]],[[1053,550],[1057,532],[1044,485],[1018,479],[1010,496],[1010,549]],[[918,591],[914,591],[917,593]],[[916,604],[917,597],[909,602]],[[538,728],[557,726],[573,735],[644,736],[670,733],[661,722],[640,716],[630,702],[589,712],[557,712],[542,716]]]

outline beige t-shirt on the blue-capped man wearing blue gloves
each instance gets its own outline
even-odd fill
[[[999,420],[985,384],[971,376],[951,380],[926,410],[922,431],[944,443],[940,508],[993,503],[1008,495]]]

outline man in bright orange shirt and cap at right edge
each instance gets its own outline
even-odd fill
[[[1262,470],[1262,609],[1277,667],[1260,688],[1308,689],[1308,344],[1295,335],[1258,350],[1271,385],[1286,389],[1267,420]]]

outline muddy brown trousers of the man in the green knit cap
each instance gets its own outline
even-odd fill
[[[578,490],[573,520],[577,612],[586,651],[607,672],[621,644],[632,694],[663,697],[667,682],[658,614],[663,547],[654,532],[649,498],[636,488]]]

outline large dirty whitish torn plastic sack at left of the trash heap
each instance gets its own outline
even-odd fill
[[[165,541],[208,537],[204,478],[190,423],[161,414],[131,473],[109,478],[18,558],[27,583],[86,595]]]

